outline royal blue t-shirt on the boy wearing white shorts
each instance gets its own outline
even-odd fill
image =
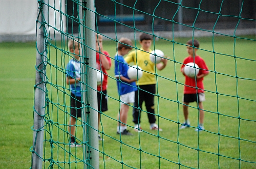
[[[119,62],[117,62],[119,61]],[[116,55],[115,56],[115,77],[126,77],[129,78],[127,75],[127,70],[129,69],[129,66],[127,63],[124,61],[122,55]],[[117,89],[118,89],[118,94],[119,95],[124,95],[126,93],[130,93],[133,91],[137,91],[136,83],[135,81],[129,83],[126,81],[121,81],[117,80]]]

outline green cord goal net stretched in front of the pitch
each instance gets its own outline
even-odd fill
[[[31,168],[255,168],[256,2],[212,3],[38,1]],[[54,22],[49,21],[52,18]],[[55,27],[57,22],[60,29]],[[139,53],[141,33],[153,37],[150,48],[163,51],[167,60],[163,70],[155,65],[150,73],[156,79],[153,115],[162,131],[151,130],[147,118],[151,113],[143,103],[139,107],[142,129],[136,132],[134,104],[127,104],[125,125],[133,135],[117,134],[122,106],[114,72],[118,40],[131,39],[134,44],[131,52]],[[99,37],[103,39],[103,47],[97,49],[95,46],[100,45],[95,41]],[[206,98],[203,108],[196,102],[189,105],[183,102],[183,91],[188,85],[181,67],[188,56],[189,39],[199,40],[199,47],[194,43],[190,47],[197,50],[208,67],[203,80]],[[80,46],[77,54],[80,60],[75,58],[69,41]],[[97,68],[96,52],[100,59],[104,56],[111,61],[106,72]],[[70,103],[74,96],[67,77],[69,71],[77,73],[68,70],[70,60],[80,65],[81,78],[75,82],[81,85],[78,107]],[[108,76],[107,93],[97,89],[97,71]],[[140,87],[138,91],[145,92]],[[107,111],[98,109],[98,94],[106,98]],[[181,129],[186,106],[190,126]],[[71,108],[81,109],[81,118],[74,124],[71,124],[74,117]],[[202,110],[204,128],[195,131],[199,129]],[[71,136],[77,142],[75,146],[70,144]]]

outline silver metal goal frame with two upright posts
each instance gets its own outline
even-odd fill
[[[38,1],[38,17],[36,23],[36,81],[34,87],[34,125],[32,168],[42,168],[42,155],[45,128],[46,106],[46,60],[47,60],[47,36],[48,36],[48,0]],[[99,168],[98,153],[98,112],[97,91],[93,90],[97,84],[95,81],[96,55],[95,51],[95,15],[93,1],[79,1],[79,39],[81,45],[81,83],[83,106],[83,161],[84,168]],[[86,9],[86,8],[87,9]],[[90,10],[88,10],[90,9]],[[90,68],[94,69],[89,69]],[[90,87],[90,88],[88,88]],[[92,87],[92,88],[91,88]],[[89,127],[90,126],[90,127]]]

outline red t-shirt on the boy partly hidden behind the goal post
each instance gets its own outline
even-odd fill
[[[109,56],[109,53],[107,51],[103,51],[102,53],[104,53],[104,55]],[[107,84],[108,84],[108,73],[106,72],[106,70],[103,68],[103,66],[101,65],[101,61],[100,61],[100,55],[98,52],[96,52],[96,66],[98,70],[101,70],[104,73],[104,79],[102,81],[102,85],[97,86],[97,90],[98,91],[105,91],[107,88]],[[110,66],[111,66],[111,59],[110,57],[106,57],[106,59],[108,59]],[[101,66],[101,68],[100,68]]]

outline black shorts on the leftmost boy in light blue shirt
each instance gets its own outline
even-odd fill
[[[73,93],[70,97],[70,114],[75,118],[82,117],[81,97],[76,97]]]

